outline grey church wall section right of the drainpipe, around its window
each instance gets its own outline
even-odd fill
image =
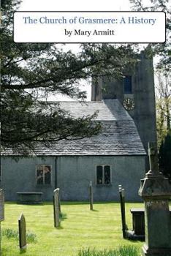
[[[96,185],[96,165],[111,165],[112,185]],[[141,200],[137,192],[145,175],[145,157],[61,157],[61,167],[62,200],[88,200],[89,181],[93,182],[94,201],[118,200],[118,184],[126,189],[126,200]]]

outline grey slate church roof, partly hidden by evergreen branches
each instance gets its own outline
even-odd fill
[[[62,109],[69,111],[75,118],[92,115],[98,110],[96,120],[102,122],[102,133],[82,140],[60,140],[50,148],[37,144],[35,148],[37,155],[145,155],[134,121],[118,99],[107,99],[102,102],[59,103]],[[6,150],[2,154],[11,155],[12,152]]]

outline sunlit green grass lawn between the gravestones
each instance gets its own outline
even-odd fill
[[[126,222],[132,229],[130,208],[142,207],[141,203],[126,203]],[[1,238],[1,256],[77,256],[80,249],[117,249],[118,246],[142,242],[122,238],[121,210],[119,203],[94,203],[94,211],[88,203],[61,203],[66,218],[61,227],[53,226],[53,204],[42,206],[6,203],[5,220],[1,230],[18,230],[18,217],[26,217],[26,230],[36,235],[37,241],[28,242],[26,252],[20,252],[17,238]]]

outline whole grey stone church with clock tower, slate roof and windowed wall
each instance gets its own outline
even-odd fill
[[[148,141],[156,140],[153,62],[142,52],[134,71],[123,75],[119,81],[93,81],[91,102],[60,102],[75,118],[98,110],[101,134],[61,140],[50,148],[37,145],[36,157],[19,157],[18,162],[10,150],[2,152],[6,200],[17,200],[17,192],[43,192],[44,200],[52,200],[56,187],[61,200],[88,200],[90,181],[96,201],[118,200],[119,184],[126,189],[126,200],[140,200]]]

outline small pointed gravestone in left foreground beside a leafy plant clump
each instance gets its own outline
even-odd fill
[[[20,214],[18,219],[18,230],[19,230],[19,246],[20,249],[26,249],[26,219],[23,214]]]

